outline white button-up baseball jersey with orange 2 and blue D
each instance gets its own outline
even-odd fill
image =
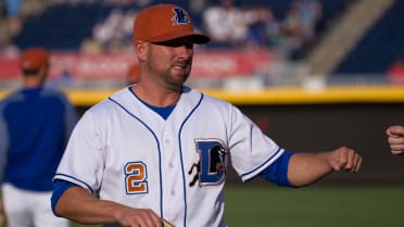
[[[185,87],[164,119],[125,88],[83,115],[55,179],[177,227],[224,227],[228,159],[248,180],[282,152],[230,103]]]

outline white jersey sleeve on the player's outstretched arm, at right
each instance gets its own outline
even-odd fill
[[[242,181],[247,181],[267,168],[285,150],[266,136],[239,109],[233,106],[230,113],[229,152],[231,164]]]

